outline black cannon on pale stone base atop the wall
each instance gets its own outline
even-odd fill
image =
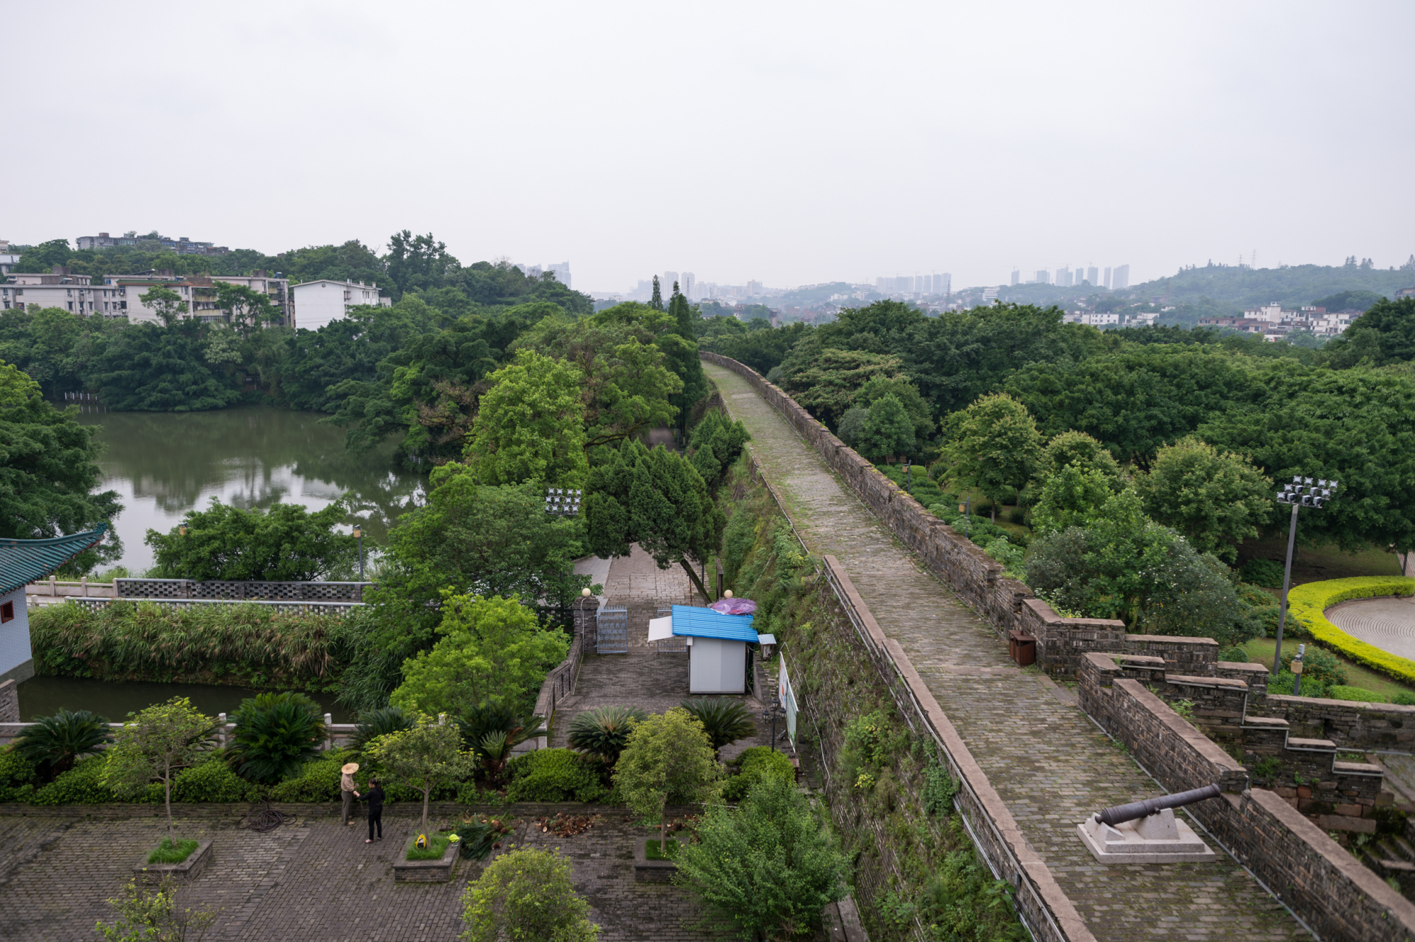
[[[1204,785],[1187,792],[1116,805],[1077,825],[1081,840],[1101,863],[1193,863],[1210,860],[1214,851],[1194,829],[1174,818],[1174,809],[1223,792]]]

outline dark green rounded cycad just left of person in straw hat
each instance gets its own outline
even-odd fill
[[[324,717],[303,693],[262,693],[242,700],[226,764],[253,782],[273,784],[314,758],[324,740]]]

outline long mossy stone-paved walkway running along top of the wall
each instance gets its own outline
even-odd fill
[[[706,362],[703,369],[751,433],[801,537],[845,566],[1098,939],[1309,938],[1227,854],[1204,864],[1098,864],[1077,822],[1159,795],[1155,782],[1064,690],[1017,669],[998,634],[916,564],[744,379]]]

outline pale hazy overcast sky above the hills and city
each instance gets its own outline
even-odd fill
[[[768,286],[1415,252],[1415,4],[7,4],[0,238]]]

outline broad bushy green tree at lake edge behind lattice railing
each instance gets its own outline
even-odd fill
[[[342,521],[342,502],[310,513],[301,504],[242,511],[211,498],[208,509],[187,511],[167,533],[147,530],[144,542],[164,578],[308,581],[352,567],[358,542],[335,532]]]

